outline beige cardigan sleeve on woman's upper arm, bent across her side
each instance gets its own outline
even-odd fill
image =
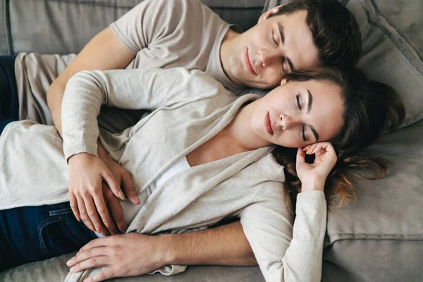
[[[82,71],[68,81],[63,95],[63,152],[66,159],[82,152],[97,156],[97,116],[102,106],[152,110],[216,94],[227,90],[201,71]]]

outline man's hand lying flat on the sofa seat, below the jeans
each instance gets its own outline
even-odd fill
[[[128,233],[92,240],[66,262],[71,272],[108,266],[99,274],[84,279],[97,282],[114,277],[146,274],[166,265],[161,257],[160,237]]]

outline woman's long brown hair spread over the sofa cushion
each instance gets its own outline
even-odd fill
[[[403,123],[405,108],[398,93],[388,85],[368,80],[357,68],[319,68],[295,71],[284,78],[289,81],[320,80],[341,88],[344,125],[331,140],[338,161],[326,178],[326,202],[331,206],[338,199],[342,205],[356,199],[352,178],[374,180],[386,175],[388,161],[363,154],[383,130],[396,130]],[[301,182],[295,169],[297,149],[276,147],[273,155],[284,166],[286,200],[295,199]],[[306,159],[307,161],[307,159]],[[295,201],[294,201],[295,202]]]

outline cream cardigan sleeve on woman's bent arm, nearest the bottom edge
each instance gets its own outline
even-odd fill
[[[293,221],[286,204],[272,200],[272,189],[267,188],[240,214],[264,278],[267,282],[320,281],[327,212],[324,192],[298,194]]]

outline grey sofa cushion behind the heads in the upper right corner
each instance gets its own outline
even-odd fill
[[[423,118],[423,1],[339,0],[362,33],[358,67],[394,87],[407,115],[403,126]],[[264,10],[293,0],[267,0]]]

